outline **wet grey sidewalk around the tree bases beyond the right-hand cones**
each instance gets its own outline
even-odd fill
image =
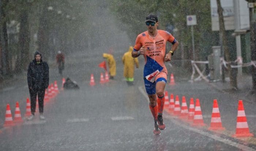
[[[251,94],[251,91],[252,91],[251,75],[243,74],[242,78],[237,78],[237,86],[238,86],[237,91],[231,90],[229,78],[226,78],[225,83],[223,83],[222,81],[219,81],[219,82],[211,82],[208,84],[210,84],[212,87],[216,88],[217,90],[221,91],[222,93],[229,93],[234,95],[238,99],[242,99],[243,101],[256,103],[256,94]]]

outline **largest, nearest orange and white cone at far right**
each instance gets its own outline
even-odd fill
[[[244,112],[243,101],[239,100],[238,102],[238,112],[237,112],[237,129],[236,134],[232,135],[233,137],[251,137],[252,133],[249,131],[247,124],[247,119]]]

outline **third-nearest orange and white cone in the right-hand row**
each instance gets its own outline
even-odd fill
[[[205,125],[199,99],[196,99],[195,114],[194,114],[194,120],[193,120],[192,125],[193,126],[204,126]]]

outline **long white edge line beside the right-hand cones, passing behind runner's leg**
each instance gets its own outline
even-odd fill
[[[142,86],[139,87],[139,90],[140,90],[140,93],[142,93],[142,94],[144,95],[144,97],[147,99],[147,101],[149,102],[149,99],[148,99],[148,97],[147,97],[147,94],[145,93],[145,91],[142,90]],[[184,125],[184,124],[178,122],[177,120],[175,120],[175,118],[173,118],[173,117],[171,117],[171,116],[165,116],[165,117],[167,117],[167,118],[169,118],[169,119],[172,119],[172,122],[173,122],[174,124],[176,124],[176,125],[178,125],[178,126],[180,126],[180,127],[182,127],[182,128],[188,129],[189,131],[193,131],[193,132],[199,133],[199,134],[201,134],[201,135],[210,137],[210,138],[212,138],[212,139],[215,139],[215,140],[220,141],[220,142],[222,142],[222,143],[228,144],[228,145],[230,145],[230,146],[234,146],[234,147],[239,148],[239,149],[244,150],[244,151],[256,151],[255,149],[250,148],[250,147],[248,147],[248,146],[245,146],[245,145],[243,145],[243,144],[239,144],[239,143],[233,142],[233,141],[231,141],[231,140],[224,139],[224,138],[219,137],[219,136],[217,136],[217,135],[213,135],[213,134],[211,134],[211,133],[204,132],[204,131],[202,131],[202,130],[200,130],[200,129],[188,127],[187,125]]]

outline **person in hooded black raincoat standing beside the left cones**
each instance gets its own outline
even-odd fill
[[[35,52],[35,59],[30,62],[27,70],[27,84],[29,86],[30,93],[30,106],[31,116],[27,120],[32,120],[35,116],[35,106],[38,95],[38,105],[40,119],[44,120],[44,96],[45,89],[49,86],[49,67],[48,64],[42,61],[42,55],[39,52]]]

